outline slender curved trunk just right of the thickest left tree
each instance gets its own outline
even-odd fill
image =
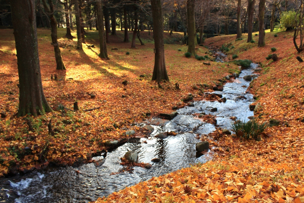
[[[61,51],[58,45],[57,41],[57,20],[54,17],[54,5],[52,0],[48,0],[48,3],[50,5],[47,5],[46,0],[42,0],[44,10],[50,14],[50,20],[51,20],[51,38],[52,38],[52,44],[54,46],[54,52],[55,52],[55,60],[56,60],[56,69],[57,70],[65,70],[65,66],[61,57]]]

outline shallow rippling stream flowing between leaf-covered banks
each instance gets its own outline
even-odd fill
[[[212,124],[195,119],[192,114],[216,115],[217,125],[221,128],[231,129],[233,122],[230,117],[236,116],[242,121],[253,116],[249,104],[254,102],[253,95],[246,93],[249,86],[243,77],[250,75],[257,64],[242,70],[240,77],[224,85],[222,94],[226,103],[217,101],[196,101],[194,107],[184,107],[177,110],[178,115],[164,125],[150,124],[154,131],[149,138],[132,138],[125,144],[108,152],[105,163],[95,167],[94,163],[83,164],[79,167],[49,167],[45,170],[35,170],[23,176],[0,178],[0,202],[88,202],[98,197],[107,196],[114,191],[135,185],[151,177],[176,171],[195,163],[204,163],[212,158],[212,154],[205,153],[196,156],[195,143],[200,142],[196,135],[206,134],[215,130]],[[242,96],[242,97],[240,97]],[[211,112],[210,107],[216,107]],[[151,120],[150,122],[153,122]],[[140,124],[141,126],[145,124]],[[196,128],[197,126],[199,126]],[[166,139],[154,137],[160,132],[174,131],[176,136],[169,135]],[[117,173],[123,169],[120,157],[133,150],[138,153],[138,162],[150,163],[151,169],[134,167],[133,171]],[[151,162],[153,158],[160,158],[158,163]],[[102,156],[93,159],[103,159]],[[79,171],[81,173],[77,173]],[[111,173],[117,173],[110,175]],[[6,199],[5,199],[6,198]]]

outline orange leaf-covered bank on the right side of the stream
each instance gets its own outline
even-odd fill
[[[255,34],[255,33],[254,33]],[[275,37],[274,35],[278,36]],[[250,59],[261,64],[261,76],[249,90],[261,107],[260,121],[281,121],[267,128],[260,141],[240,140],[217,130],[210,135],[211,161],[181,169],[126,187],[98,202],[304,202],[304,66],[296,56],[293,32],[266,33],[266,46],[235,41],[235,35],[206,39],[205,45],[230,48],[229,58]],[[271,47],[277,51],[272,52]],[[268,54],[278,60],[266,60]]]

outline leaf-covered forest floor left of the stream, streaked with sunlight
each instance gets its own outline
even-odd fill
[[[0,176],[19,170],[40,169],[53,163],[72,165],[90,162],[94,153],[107,149],[107,142],[131,136],[144,136],[143,128],[131,126],[160,113],[171,113],[172,107],[183,107],[181,101],[188,93],[195,100],[202,100],[194,84],[214,86],[218,79],[239,70],[237,65],[186,58],[186,46],[178,45],[181,33],[165,34],[166,68],[170,82],[161,82],[164,89],[151,81],[154,67],[154,42],[152,35],[141,32],[145,45],[136,39],[136,48],[123,43],[123,32],[110,35],[107,44],[109,60],[98,57],[98,32],[87,30],[83,51],[76,50],[76,39],[62,38],[65,29],[58,29],[60,50],[66,71],[56,70],[54,48],[50,29],[38,29],[38,47],[44,94],[53,112],[39,117],[16,117],[19,104],[18,69],[13,30],[0,30]],[[131,32],[130,32],[131,33]],[[72,32],[76,36],[75,32]],[[132,35],[130,34],[129,37]],[[93,45],[95,47],[91,47]],[[30,49],[31,47],[24,47]],[[117,48],[117,49],[114,49]],[[178,51],[181,49],[181,51]],[[130,54],[127,55],[126,52]],[[197,53],[208,51],[199,47]],[[208,61],[209,62],[209,61]],[[51,80],[57,74],[58,80]],[[140,75],[144,77],[140,77]],[[126,80],[127,85],[122,82]],[[175,83],[180,90],[175,89]],[[206,89],[206,88],[205,88]],[[199,95],[201,94],[201,96]],[[94,94],[93,98],[91,95]],[[78,101],[80,110],[57,110],[59,105],[73,109]],[[83,110],[101,107],[85,112]],[[33,124],[29,131],[26,118]],[[55,135],[48,133],[47,124],[52,120]],[[126,135],[135,130],[135,135]]]

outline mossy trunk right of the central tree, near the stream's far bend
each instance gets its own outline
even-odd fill
[[[187,18],[188,18],[188,52],[195,56],[195,18],[194,18],[195,0],[187,0]]]

